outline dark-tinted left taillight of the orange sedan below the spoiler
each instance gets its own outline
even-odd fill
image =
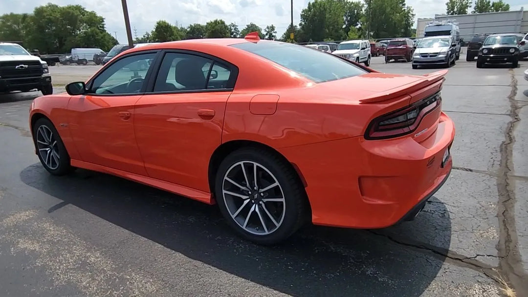
[[[372,120],[365,132],[365,139],[385,139],[407,135],[418,128],[423,117],[440,106],[440,92],[408,107],[383,114]]]

